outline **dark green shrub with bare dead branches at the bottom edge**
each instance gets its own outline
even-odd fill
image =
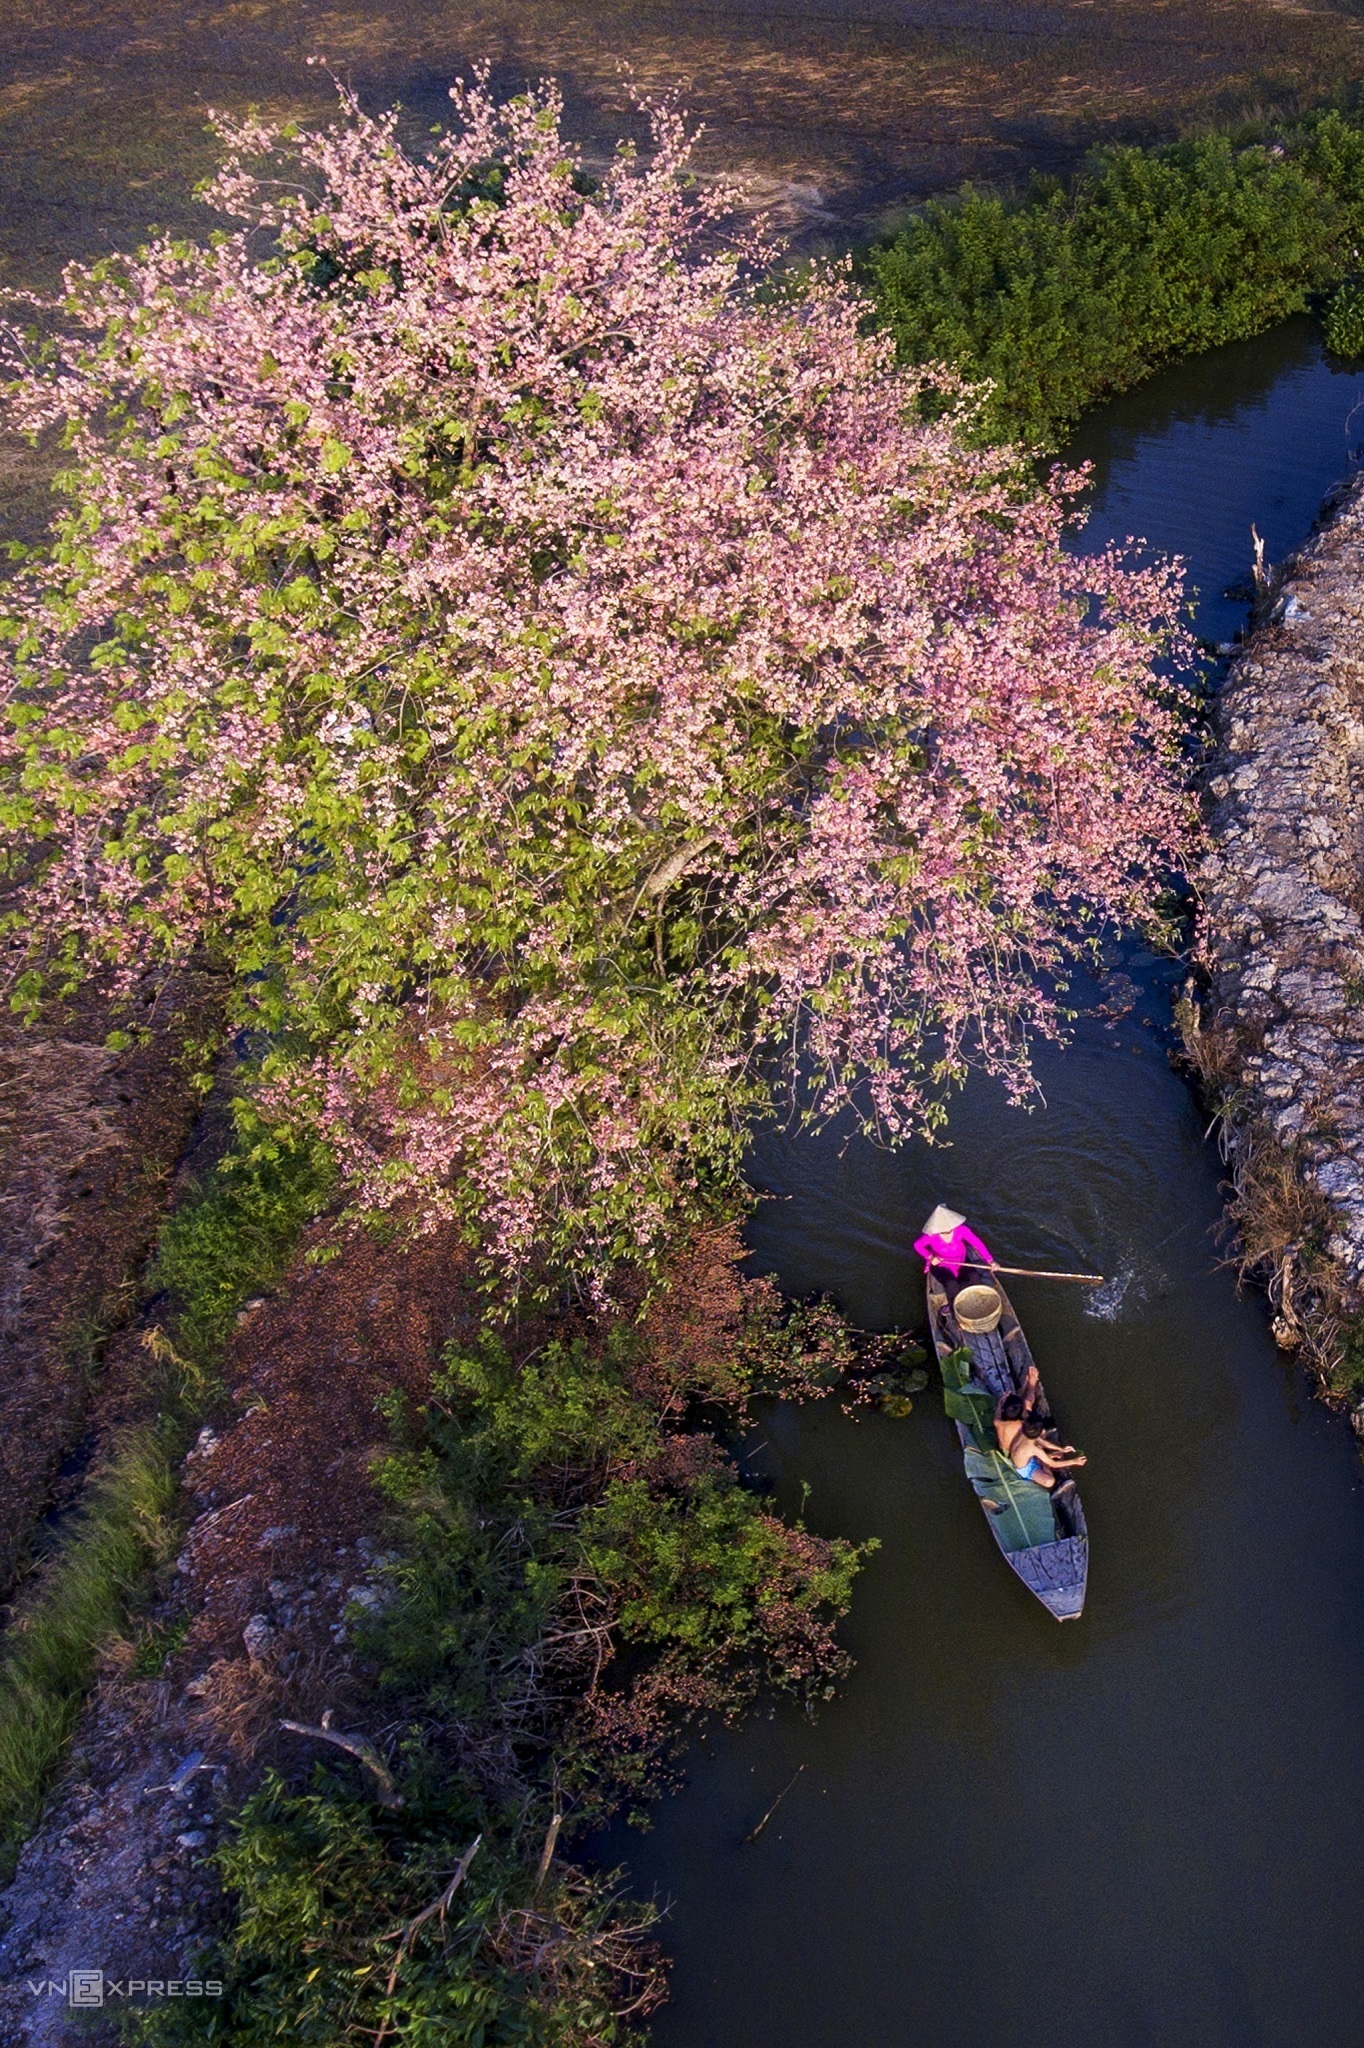
[[[446,1911],[428,1911],[465,1860]],[[268,1776],[221,1870],[240,1917],[205,1976],[221,1966],[227,1995],[131,2011],[125,2038],[625,2048],[637,2034],[623,2007],[657,2003],[657,1962],[641,1939],[655,1913],[627,1923],[610,1878],[541,1876],[508,1855],[475,1831],[457,1786],[397,1827],[324,1769],[307,1792]]]

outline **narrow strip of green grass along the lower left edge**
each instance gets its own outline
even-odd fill
[[[158,1417],[111,1446],[0,1645],[0,1868],[37,1817],[100,1647],[145,1606],[154,1569],[174,1550],[178,1464],[217,1393],[231,1321],[279,1280],[330,1178],[319,1147],[262,1143],[213,1171],[162,1227],[150,1288],[166,1307],[143,1339]]]

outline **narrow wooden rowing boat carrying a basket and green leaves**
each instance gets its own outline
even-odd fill
[[[1090,1571],[1079,1491],[1065,1487],[1053,1497],[1045,1487],[1022,1479],[997,1448],[995,1401],[1022,1393],[1032,1352],[997,1274],[977,1278],[989,1280],[1004,1303],[997,1327],[983,1335],[965,1331],[952,1315],[956,1294],[971,1284],[971,1270],[963,1280],[952,1280],[942,1268],[928,1276],[928,1327],[942,1370],[942,1399],[956,1423],[967,1479],[1004,1556],[1049,1614],[1059,1622],[1075,1622],[1085,1604]],[[1032,1409],[1051,1423],[1040,1384]]]

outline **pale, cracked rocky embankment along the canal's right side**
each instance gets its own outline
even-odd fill
[[[1284,1348],[1329,1393],[1364,1311],[1364,479],[1327,502],[1233,659],[1186,1040],[1225,1118],[1235,1221]]]

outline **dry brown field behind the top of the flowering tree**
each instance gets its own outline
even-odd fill
[[[315,113],[324,53],[416,125],[479,57],[563,80],[608,147],[629,78],[680,86],[702,162],[784,223],[844,240],[965,178],[1065,170],[1102,137],[1167,137],[1311,104],[1364,70],[1362,20],[1288,0],[6,0],[0,276],[195,217],[207,104]]]

